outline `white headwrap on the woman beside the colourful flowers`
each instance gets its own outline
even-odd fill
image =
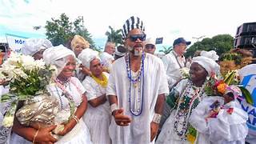
[[[200,66],[202,66],[207,71],[209,76],[211,74],[217,74],[220,70],[220,66],[218,65],[218,63],[211,58],[198,56],[194,57],[192,59],[192,62],[197,62]]]

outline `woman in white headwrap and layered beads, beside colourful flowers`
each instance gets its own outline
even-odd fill
[[[204,143],[201,139],[198,141],[198,135],[194,133],[194,128],[190,126],[188,119],[198,103],[207,97],[204,92],[206,77],[216,74],[218,70],[219,66],[213,59],[203,56],[193,58],[190,65],[190,79],[183,79],[174,87],[177,94],[172,96],[178,100],[162,126],[156,143]]]

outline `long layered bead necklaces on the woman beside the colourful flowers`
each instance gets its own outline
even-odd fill
[[[175,114],[174,119],[174,131],[182,140],[186,140],[186,132],[188,126],[188,118],[190,116],[191,110],[198,106],[198,103],[202,99],[203,88],[205,84],[199,89],[193,86],[193,83],[189,80],[186,83],[186,89],[183,91],[180,100],[178,101],[177,114]],[[193,95],[190,95],[190,90],[193,89]],[[181,130],[178,127],[182,126]]]

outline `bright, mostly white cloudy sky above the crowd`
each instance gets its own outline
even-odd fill
[[[255,0],[0,0],[0,42],[6,34],[46,38],[46,21],[65,13],[71,21],[83,16],[96,46],[104,46],[108,26],[115,30],[130,16],[146,26],[147,38],[163,37],[162,46],[175,38],[197,42],[217,34],[235,36],[238,26],[256,22]],[[34,30],[34,26],[42,26]],[[200,39],[197,39],[200,38]]]

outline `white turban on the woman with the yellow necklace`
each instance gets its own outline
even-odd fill
[[[98,51],[91,50],[91,49],[84,49],[82,52],[78,55],[78,59],[82,62],[83,66],[86,66],[87,68],[90,68],[90,62],[93,61],[95,58],[98,58]]]

